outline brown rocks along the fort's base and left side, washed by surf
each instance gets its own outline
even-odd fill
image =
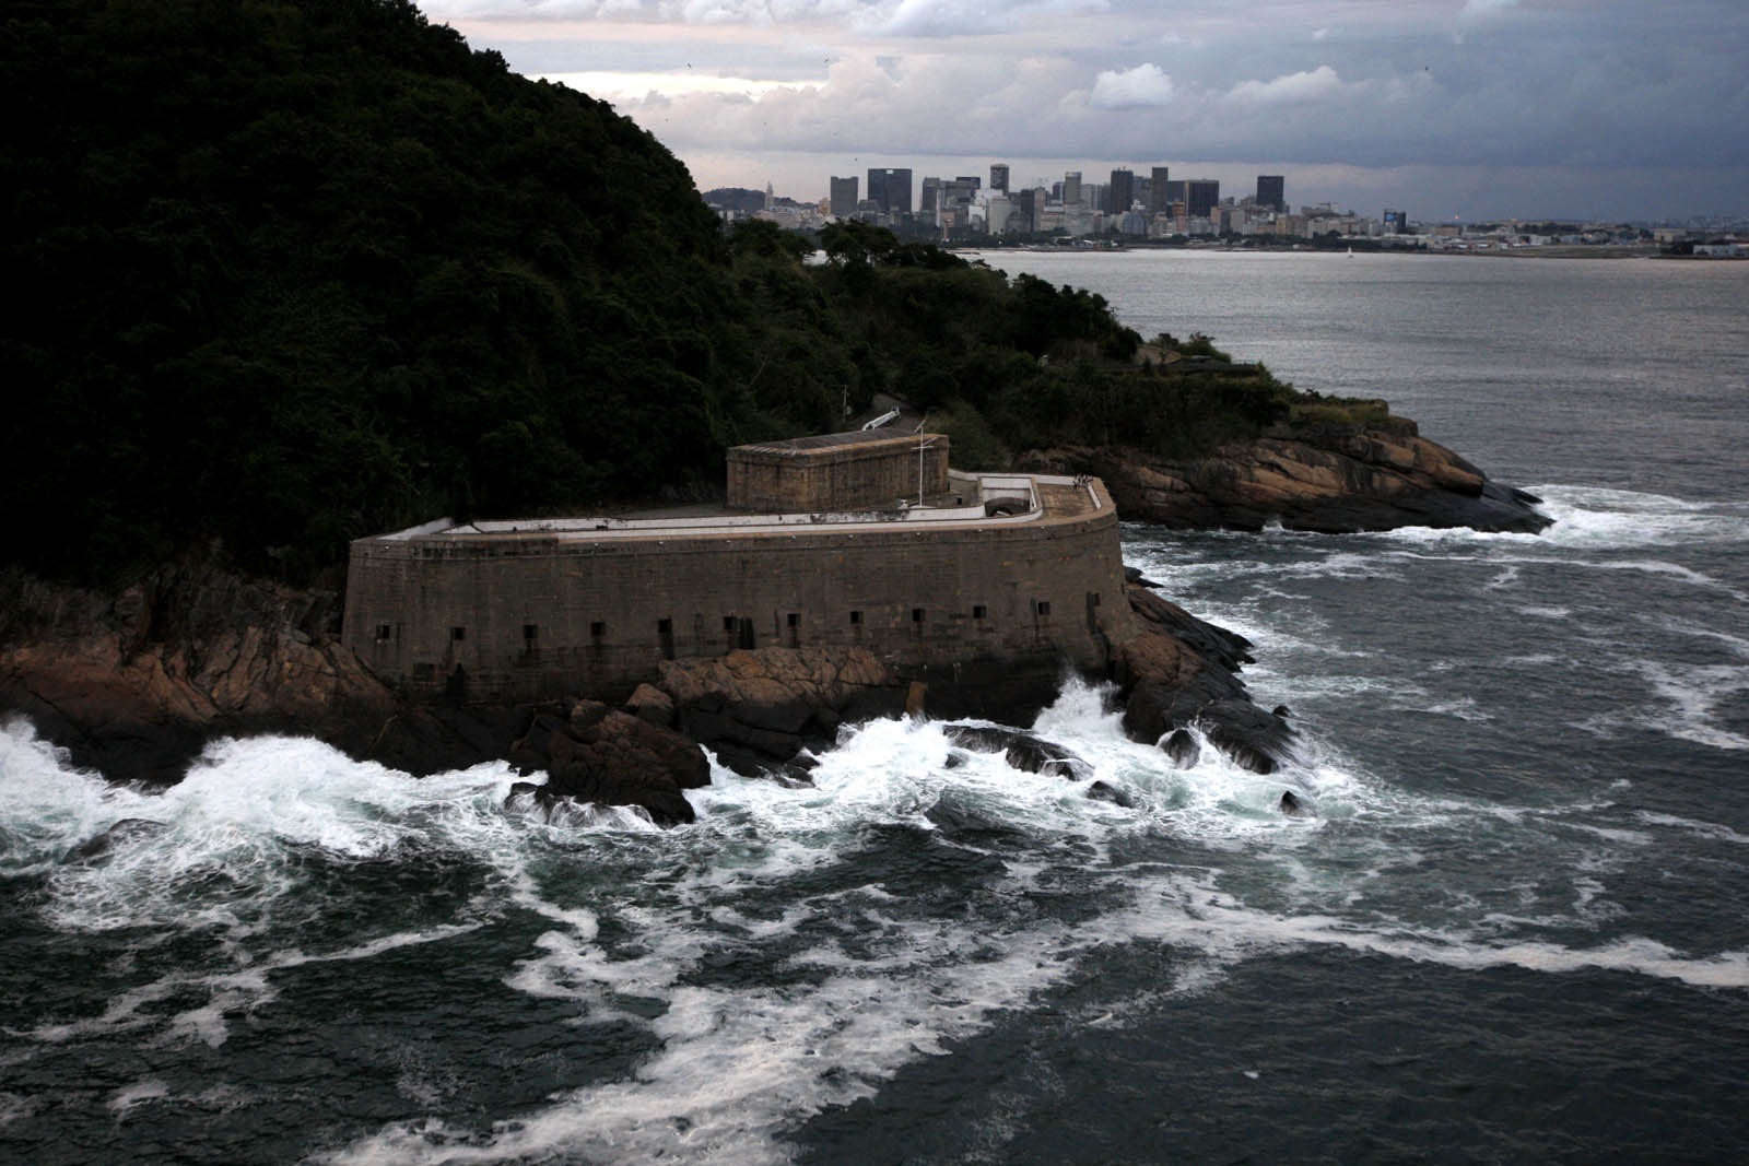
[[[1126,594],[1109,680],[1130,736],[1160,743],[1195,722],[1240,764],[1272,771],[1291,732],[1247,698],[1245,642],[1140,582]],[[30,717],[75,766],[115,781],[170,785],[212,739],[285,732],[415,774],[505,759],[530,778],[512,801],[547,811],[640,806],[672,825],[693,818],[684,790],[710,780],[703,748],[738,773],[806,783],[845,725],[901,715],[1027,725],[1063,682],[1055,668],[1013,661],[901,675],[862,649],[773,647],[665,661],[651,684],[624,694],[408,701],[341,647],[338,631],[336,596],[210,561],[164,566],[115,596],[7,570],[0,711]],[[1049,760],[1049,745],[1023,755]]]

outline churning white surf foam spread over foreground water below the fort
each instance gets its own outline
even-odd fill
[[[483,1129],[423,1117],[442,1082],[430,1066],[402,1066],[395,1089],[411,1107],[408,1119],[318,1159],[334,1163],[784,1161],[785,1133],[810,1114],[871,1096],[904,1065],[1028,1007],[1118,944],[1174,949],[1161,993],[1209,991],[1235,963],[1308,946],[1466,970],[1613,968],[1749,986],[1742,953],[1691,956],[1644,939],[1583,949],[1527,937],[1530,928],[1607,918],[1614,906],[1604,864],[1579,871],[1569,860],[1578,890],[1564,907],[1536,909],[1527,886],[1527,909],[1501,911],[1453,886],[1425,907],[1431,921],[1411,923],[1394,909],[1392,888],[1424,881],[1418,865],[1438,860],[1453,822],[1494,823],[1501,841],[1492,844],[1522,846],[1555,837],[1548,822],[1571,827],[1586,808],[1417,797],[1317,738],[1303,741],[1301,760],[1286,773],[1259,776],[1198,732],[1198,764],[1172,769],[1158,748],[1123,736],[1100,691],[1081,685],[1069,685],[1035,731],[1077,752],[1133,808],[1090,799],[1086,780],[1018,773],[1000,753],[957,752],[943,725],[909,720],[847,732],[822,757],[813,788],[715,767],[710,788],[691,794],[700,820],[666,832],[614,815],[549,823],[504,813],[504,767],[413,781],[308,741],[229,741],[210,750],[184,787],[143,795],[66,773],[28,734],[12,738],[23,760],[9,760],[5,785],[16,788],[7,797],[21,813],[47,808],[61,822],[52,848],[38,844],[40,853],[124,816],[164,825],[101,860],[56,871],[45,914],[91,930],[122,920],[166,932],[213,927],[229,937],[234,960],[222,970],[170,968],[117,991],[96,1016],[19,1035],[45,1044],[131,1035],[217,1045],[241,1017],[278,1000],[287,968],[371,960],[479,927],[456,921],[360,937],[341,951],[303,951],[278,918],[278,904],[299,892],[301,848],[341,862],[408,846],[477,857],[493,871],[483,918],[519,909],[547,921],[532,947],[507,956],[504,982],[577,1003],[579,1024],[630,1023],[658,1042],[628,1077],[556,1094]],[[955,753],[962,764],[950,767]],[[26,780],[16,781],[21,773]],[[1277,813],[1289,787],[1315,816]],[[988,823],[988,841],[978,823]],[[1567,836],[1595,837],[1599,853],[1644,848],[1630,837],[1635,830],[1579,825]],[[950,834],[960,853],[995,860],[995,897],[1011,899],[1013,913],[920,918],[890,886],[820,881],[855,862],[883,829]],[[1179,858],[1137,860],[1139,843]],[[1228,860],[1266,876],[1247,892],[1252,885],[1228,872]],[[570,878],[577,865],[624,878],[579,892]],[[177,890],[213,869],[234,885],[224,904]],[[645,886],[654,871],[659,886]],[[1030,895],[1056,892],[1065,871],[1091,888],[1072,927],[1028,907]],[[700,975],[722,958],[766,960],[782,974],[773,984],[740,986]],[[1123,1019],[1109,1014],[1100,1023]],[[115,1112],[152,1101],[147,1086],[117,1094]]]

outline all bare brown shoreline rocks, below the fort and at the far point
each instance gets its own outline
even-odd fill
[[[1548,524],[1529,495],[1488,482],[1396,420],[1324,441],[1263,439],[1193,463],[1118,449],[1058,449],[1035,462],[1097,472],[1125,517],[1174,528]],[[1265,711],[1240,680],[1249,643],[1146,580],[1125,591],[1107,675],[1086,680],[1111,684],[1126,734],[1179,766],[1195,764],[1198,746],[1184,732],[1193,724],[1258,773],[1287,760],[1286,710]],[[546,704],[413,701],[341,647],[332,593],[243,579],[201,559],[166,565],[119,594],[0,572],[0,713],[23,713],[75,766],[114,781],[170,785],[213,738],[285,732],[420,776],[507,759],[525,776],[544,774],[512,797],[549,811],[640,806],[672,825],[693,818],[684,792],[710,780],[705,748],[736,773],[806,783],[845,725],[927,715],[1018,725],[1025,736],[1063,680],[1049,661],[901,673],[861,649],[757,649],[663,661],[633,692]],[[1048,741],[967,746],[1081,773]],[[1121,797],[1098,785],[1090,795]]]

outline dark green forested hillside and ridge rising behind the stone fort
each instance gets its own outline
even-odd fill
[[[957,448],[1252,432],[1258,378],[862,226],[726,233],[605,103],[406,0],[10,0],[0,16],[7,558],[189,545],[308,579],[348,538],[721,481],[892,390]],[[1049,367],[1039,357],[1055,353]]]

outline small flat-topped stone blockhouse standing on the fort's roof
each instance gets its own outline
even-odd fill
[[[930,442],[922,455],[918,444]],[[922,465],[920,465],[922,463]],[[763,514],[887,509],[948,489],[948,439],[904,435],[806,448],[798,442],[738,446],[728,458],[728,503]]]

